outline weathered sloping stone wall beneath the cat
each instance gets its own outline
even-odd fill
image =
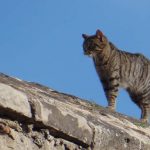
[[[0,74],[0,149],[150,150],[148,124]]]

